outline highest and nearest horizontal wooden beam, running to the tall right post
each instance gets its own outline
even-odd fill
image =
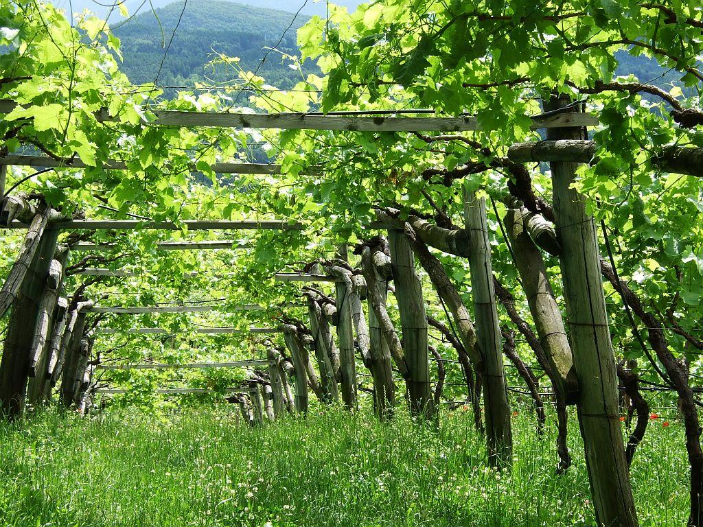
[[[0,113],[9,113],[16,103],[0,100]],[[338,131],[474,131],[480,130],[476,117],[359,117],[356,115],[321,115],[305,113],[251,114],[241,112],[180,112],[150,110],[155,119],[150,125],[207,126],[217,128],[254,128],[288,130],[338,130]],[[98,121],[116,121],[103,108],[96,112]],[[595,126],[598,119],[587,113],[561,113],[531,117],[531,129]]]

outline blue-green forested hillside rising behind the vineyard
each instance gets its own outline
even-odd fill
[[[245,71],[258,68],[258,74],[269,84],[290,88],[301,80],[301,73],[292,69],[290,60],[284,60],[281,53],[298,52],[297,29],[309,20],[309,16],[299,14],[294,21],[294,15],[228,1],[188,2],[185,11],[182,2],[174,2],[144,11],[115,30],[122,41],[122,70],[134,84],[155,80],[167,86],[192,86],[206,79],[228,82],[238,77],[231,65],[207,66],[217,53],[222,53],[240,58],[238,64]],[[176,25],[178,30],[166,53]],[[273,46],[278,52],[269,53],[259,67],[266,48]]]

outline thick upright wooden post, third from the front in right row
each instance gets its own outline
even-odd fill
[[[408,392],[413,415],[434,417],[427,349],[427,314],[423,285],[415,271],[415,255],[403,231],[388,231],[393,280],[403,330],[403,350],[408,365]]]

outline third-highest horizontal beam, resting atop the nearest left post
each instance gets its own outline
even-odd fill
[[[280,220],[228,221],[228,220],[186,220],[180,223],[170,221],[144,220],[60,220],[50,224],[52,228],[65,230],[302,230],[300,223]],[[10,228],[28,228],[27,223],[13,221]]]

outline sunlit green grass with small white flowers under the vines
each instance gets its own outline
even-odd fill
[[[585,526],[588,480],[555,476],[553,438],[515,417],[510,473],[486,467],[468,413],[441,429],[382,425],[342,410],[266,429],[231,408],[134,410],[78,419],[46,411],[0,424],[0,526]],[[678,422],[650,422],[632,467],[641,526],[683,526],[686,457]]]

